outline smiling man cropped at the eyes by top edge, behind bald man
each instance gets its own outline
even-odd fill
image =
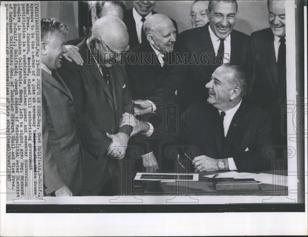
[[[144,31],[142,31],[142,26],[149,16],[157,13],[154,11],[155,6],[156,1],[134,1],[134,7],[125,11],[123,21],[127,27],[130,48],[134,48],[147,40]],[[178,35],[176,21],[171,20],[176,28],[176,35]]]

